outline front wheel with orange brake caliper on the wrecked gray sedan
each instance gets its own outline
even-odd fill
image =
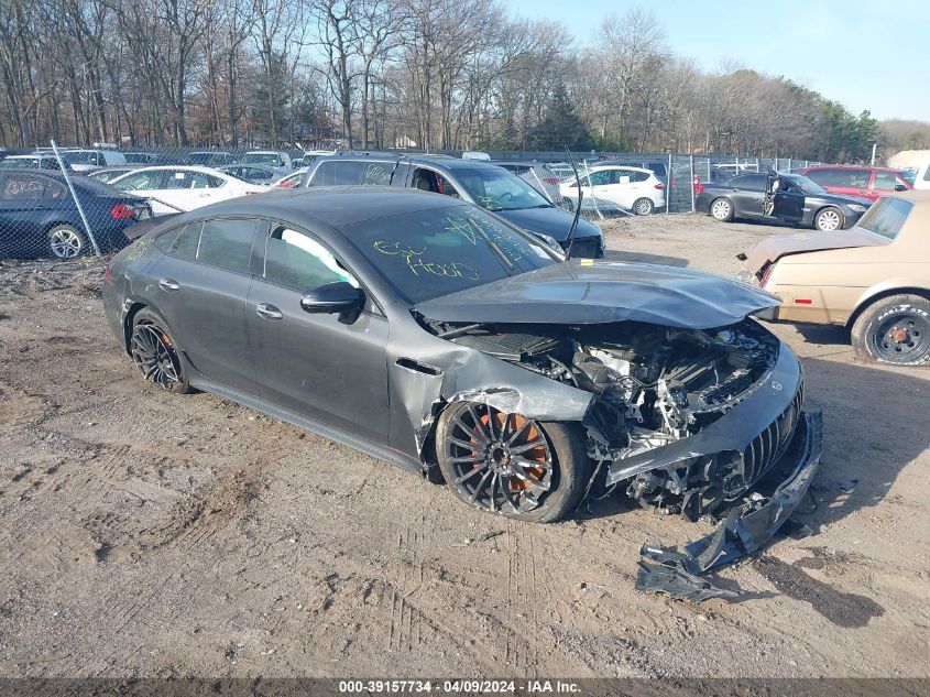
[[[565,518],[591,477],[578,425],[537,423],[484,404],[449,406],[439,417],[436,449],[444,478],[462,501],[522,521]]]

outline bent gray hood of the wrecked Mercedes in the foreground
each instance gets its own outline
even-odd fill
[[[440,322],[605,324],[644,322],[682,329],[734,324],[780,301],[700,271],[570,259],[565,263],[419,303]]]

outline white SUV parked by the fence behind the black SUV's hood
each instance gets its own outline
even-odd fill
[[[617,207],[637,216],[647,216],[665,207],[665,185],[644,167],[598,166],[580,174],[582,210],[601,210]],[[575,210],[578,184],[575,175],[559,184],[560,205]]]

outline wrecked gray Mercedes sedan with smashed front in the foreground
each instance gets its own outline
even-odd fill
[[[800,363],[751,317],[777,298],[566,260],[447,196],[231,200],[155,228],[106,280],[113,333],[165,390],[252,406],[508,518],[557,521],[615,489],[726,519],[689,571],[757,548],[819,461]]]

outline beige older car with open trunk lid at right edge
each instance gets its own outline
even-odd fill
[[[855,227],[775,235],[741,280],[781,298],[775,319],[850,327],[860,358],[930,362],[930,192],[883,196]]]

